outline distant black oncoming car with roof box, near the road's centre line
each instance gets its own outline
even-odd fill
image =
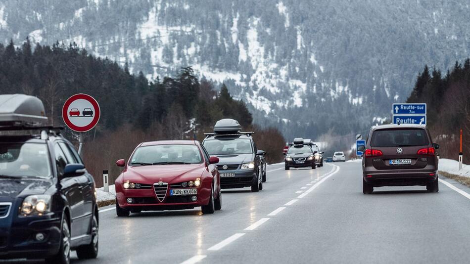
[[[285,170],[290,168],[316,168],[315,154],[309,145],[292,145],[284,158]]]

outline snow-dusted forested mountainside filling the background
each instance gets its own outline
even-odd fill
[[[287,137],[364,131],[408,97],[424,64],[469,56],[468,1],[0,2],[0,40],[56,41],[147,78],[192,65]],[[332,130],[329,130],[329,129]]]

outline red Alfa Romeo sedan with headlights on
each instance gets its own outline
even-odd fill
[[[198,141],[143,142],[116,179],[116,213],[127,217],[141,211],[202,207],[203,214],[222,208],[219,158],[207,154]]]

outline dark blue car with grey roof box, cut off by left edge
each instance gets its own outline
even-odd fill
[[[18,116],[27,121],[43,118],[29,111],[38,109],[38,98],[15,95],[9,102],[18,107],[11,111],[2,109],[4,96],[0,95],[0,259],[68,264],[71,250],[80,259],[96,258],[93,177],[59,129],[18,122]],[[5,118],[5,111],[16,116]],[[44,107],[37,112],[44,113]]]

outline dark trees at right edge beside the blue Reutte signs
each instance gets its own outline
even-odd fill
[[[458,158],[462,129],[464,163],[470,162],[470,59],[444,75],[426,65],[407,102],[427,103],[427,125],[441,157]]]

